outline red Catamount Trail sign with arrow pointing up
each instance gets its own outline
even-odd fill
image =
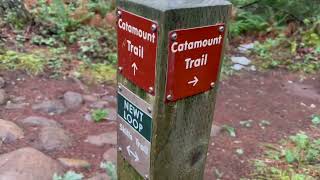
[[[123,9],[117,15],[119,73],[154,95],[158,25]]]

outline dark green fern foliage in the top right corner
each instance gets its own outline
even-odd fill
[[[288,22],[303,23],[320,14],[318,0],[231,0],[237,11],[231,23],[231,35],[246,32],[271,32]]]

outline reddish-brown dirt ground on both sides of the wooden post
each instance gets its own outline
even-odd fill
[[[1,72],[9,80],[5,90],[9,95],[23,96],[26,102],[36,103],[39,99],[62,98],[66,91],[84,94],[79,85],[72,80],[52,80],[46,76],[29,77],[23,73]],[[19,81],[17,80],[19,79]],[[14,83],[13,83],[14,82]],[[115,97],[116,86],[89,87],[91,94],[105,94]],[[313,105],[312,105],[313,104]],[[315,107],[314,107],[315,106]],[[110,103],[108,108],[115,108]],[[214,136],[208,151],[205,179],[237,180],[250,174],[250,160],[261,154],[262,143],[275,143],[284,137],[299,131],[310,130],[310,116],[320,113],[320,76],[304,77],[286,71],[243,72],[221,82],[214,116],[214,124],[229,125],[236,128],[236,137],[220,132]],[[114,121],[93,123],[85,121],[83,116],[90,108],[85,104],[77,111],[68,111],[62,115],[48,116],[32,111],[31,107],[19,110],[0,108],[0,119],[17,122],[31,115],[41,115],[62,123],[64,129],[73,134],[71,148],[61,151],[43,151],[53,157],[72,157],[85,159],[93,166],[90,169],[78,169],[86,177],[103,172],[99,168],[103,153],[112,145],[97,147],[84,143],[88,135],[97,135],[116,130]],[[252,127],[245,128],[240,121],[252,120]],[[259,126],[261,120],[270,122],[264,129]],[[0,154],[17,148],[32,146],[37,148],[38,128],[25,130],[25,138],[12,144],[0,146]],[[243,149],[239,155],[237,149]],[[218,172],[218,173],[217,173]]]

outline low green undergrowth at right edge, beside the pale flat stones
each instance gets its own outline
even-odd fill
[[[263,43],[257,42],[254,48],[256,64],[262,69],[285,68],[289,71],[315,73],[320,70],[320,53],[312,51],[310,53],[297,56],[300,49],[309,48],[305,43],[296,43],[279,35],[275,39],[267,39]],[[291,47],[291,48],[290,48]],[[312,47],[310,47],[312,49]]]

